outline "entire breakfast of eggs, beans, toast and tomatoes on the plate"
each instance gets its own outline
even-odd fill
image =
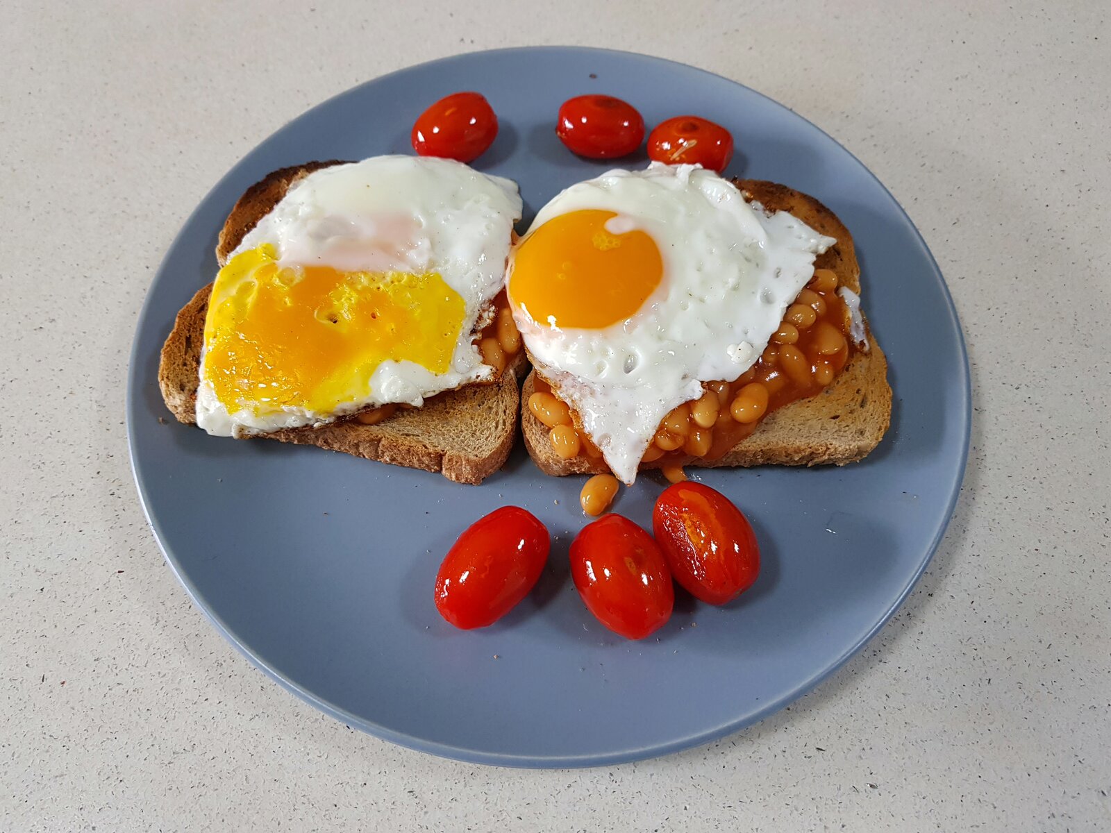
[[[590,94],[563,103],[556,133],[615,159],[645,124]],[[720,605],[759,574],[743,513],[684,466],[840,465],[885,433],[887,360],[852,237],[812,197],[723,177],[732,134],[679,116],[648,133],[647,169],[570,184],[518,239],[517,185],[466,164],[497,136],[487,99],[458,92],[417,119],[416,157],[312,162],[248,189],[213,283],[167,339],[162,395],[210,434],[462,483],[501,468],[520,424],[544,474],[591,475],[588,516],[659,470],[672,485],[651,534],[610,513],[570,548],[587,609],[643,639],[670,618],[674,583]],[[530,512],[496,510],[444,558],[437,610],[464,630],[496,622],[550,546]]]

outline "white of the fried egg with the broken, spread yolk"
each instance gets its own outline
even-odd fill
[[[372,157],[299,180],[231,258],[270,243],[282,267],[438,272],[466,304],[451,369],[433,373],[411,361],[388,360],[374,371],[363,398],[336,403],[327,412],[288,407],[256,414],[249,407],[229,412],[217,399],[202,351],[197,424],[223,436],[268,433],[321,424],[371,405],[420,405],[441,391],[489,379],[493,371],[470,337],[504,284],[513,223],[520,217],[514,182],[450,159]]]

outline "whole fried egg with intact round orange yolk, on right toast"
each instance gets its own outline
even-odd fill
[[[757,361],[834,242],[711,171],[653,162],[544,205],[508,294],[533,364],[631,484],[660,421]]]

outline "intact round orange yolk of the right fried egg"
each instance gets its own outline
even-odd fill
[[[615,234],[612,211],[554,217],[513,254],[509,295],[533,321],[598,330],[632,315],[660,285],[663,261],[643,231]]]

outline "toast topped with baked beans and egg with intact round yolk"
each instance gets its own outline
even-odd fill
[[[782,185],[610,171],[539,211],[507,284],[533,365],[522,433],[548,474],[847,463],[887,430],[852,240]]]

